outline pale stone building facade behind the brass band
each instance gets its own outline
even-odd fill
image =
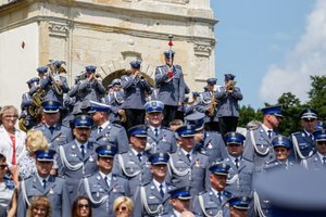
[[[187,85],[201,91],[215,77],[215,24],[210,0],[0,0],[0,106],[18,106],[51,60],[67,63],[71,85],[89,64],[106,85],[133,60],[153,79],[168,35]]]

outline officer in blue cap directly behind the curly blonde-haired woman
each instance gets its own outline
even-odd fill
[[[68,143],[73,140],[72,130],[60,123],[61,104],[57,101],[45,101],[42,103],[42,124],[34,129],[43,132],[52,149],[57,150],[58,145]]]

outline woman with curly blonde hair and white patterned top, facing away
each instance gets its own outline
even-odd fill
[[[48,140],[40,130],[29,130],[26,136],[26,151],[22,156],[20,166],[20,177],[26,179],[36,173],[35,151],[49,148]]]

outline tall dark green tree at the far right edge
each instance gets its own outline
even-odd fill
[[[319,113],[319,119],[326,120],[326,76],[310,76],[312,84],[308,92],[308,105]]]

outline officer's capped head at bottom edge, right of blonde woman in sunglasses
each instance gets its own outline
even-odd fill
[[[188,187],[180,187],[168,192],[170,193],[170,203],[173,206],[173,209],[162,217],[178,217],[185,210],[190,208],[190,190]]]

